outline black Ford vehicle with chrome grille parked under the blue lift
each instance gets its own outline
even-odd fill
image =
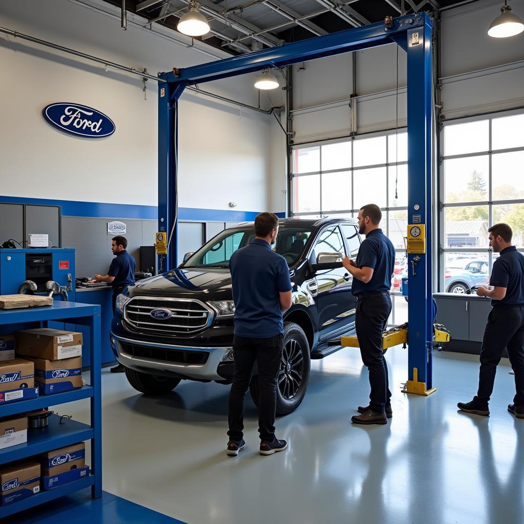
[[[111,345],[135,389],[166,394],[182,379],[231,384],[235,305],[229,259],[253,238],[253,223],[230,227],[185,255],[177,269],[141,280],[117,297]],[[279,222],[275,250],[287,260],[293,291],[284,318],[277,414],[302,402],[310,359],[339,350],[327,342],[354,333],[352,276],[341,257],[355,258],[360,244],[353,219]],[[250,391],[257,403],[256,372]]]

